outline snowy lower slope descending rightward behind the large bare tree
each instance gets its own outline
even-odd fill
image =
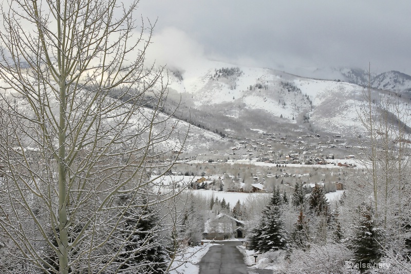
[[[0,84],[1,86],[5,86],[2,79],[0,79]],[[78,93],[78,98],[87,98],[87,95],[85,95],[86,93],[88,92],[81,90],[81,92]],[[18,109],[20,109],[20,112],[26,117],[34,116],[33,110],[30,105],[27,104],[25,97],[18,95],[15,90],[11,88],[0,88],[0,94],[2,95],[2,97],[0,98],[3,98],[4,96],[6,100],[13,100],[13,104],[15,104]],[[109,99],[107,99],[107,101],[114,102],[114,100]],[[55,117],[58,117],[58,101],[55,99],[52,93],[49,93],[49,103],[50,112],[53,113]],[[117,116],[119,115],[123,117],[128,113],[130,108],[131,107],[129,107],[128,104],[124,104],[116,108],[115,111],[102,115],[101,123],[105,126],[116,126],[116,124],[118,124]],[[78,112],[72,113],[70,119],[72,121],[76,120],[77,117],[81,116],[83,112],[85,112],[85,110],[79,107]],[[160,145],[157,148],[158,150],[170,152],[179,151],[181,144],[185,142],[180,157],[192,157],[193,155],[196,155],[201,151],[209,151],[214,148],[220,147],[230,147],[232,145],[231,140],[222,138],[219,134],[216,134],[214,132],[201,129],[193,124],[190,124],[187,121],[180,120],[178,119],[178,117],[169,117],[169,115],[161,112],[156,114],[153,113],[154,110],[150,107],[140,107],[139,111],[135,111],[134,115],[130,117],[128,123],[130,123],[131,125],[127,128],[127,130],[125,130],[125,132],[133,135],[136,134],[136,132],[141,131],[141,129],[145,128],[146,132],[143,132],[142,136],[147,139],[148,129],[150,129],[150,127],[147,127],[147,123],[151,122],[150,119],[152,117],[156,117],[153,120],[154,126],[151,129],[151,134],[158,138],[156,139],[156,142],[158,142],[158,140],[161,140],[159,141]],[[57,143],[57,140],[55,140],[55,142]],[[36,148],[32,147],[33,145],[35,144],[27,144],[27,149],[35,150]]]

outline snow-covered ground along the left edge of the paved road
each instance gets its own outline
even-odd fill
[[[206,242],[206,241],[204,241]],[[208,242],[208,241],[207,241]],[[203,246],[189,247],[184,253],[183,257],[179,256],[173,262],[170,274],[198,274],[199,267],[198,263],[201,258],[206,255],[210,247],[218,245],[216,243],[209,242]]]

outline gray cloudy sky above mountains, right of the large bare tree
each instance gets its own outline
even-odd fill
[[[411,75],[411,1],[141,0],[154,21],[151,58],[184,68],[203,58],[300,75],[359,67]]]

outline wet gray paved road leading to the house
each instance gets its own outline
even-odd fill
[[[200,274],[271,274],[267,269],[248,269],[244,255],[236,248],[241,242],[218,242],[199,263]]]

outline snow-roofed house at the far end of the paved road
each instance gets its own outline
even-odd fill
[[[208,240],[225,240],[244,238],[244,222],[227,214],[220,213],[204,223],[203,238]]]

